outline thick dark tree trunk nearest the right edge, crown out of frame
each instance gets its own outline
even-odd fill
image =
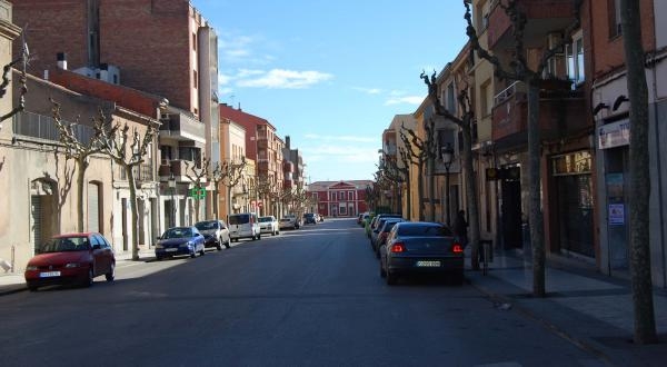
[[[650,269],[648,156],[648,88],[639,1],[621,0],[621,31],[630,99],[630,275],[635,309],[635,343],[657,341]]]

